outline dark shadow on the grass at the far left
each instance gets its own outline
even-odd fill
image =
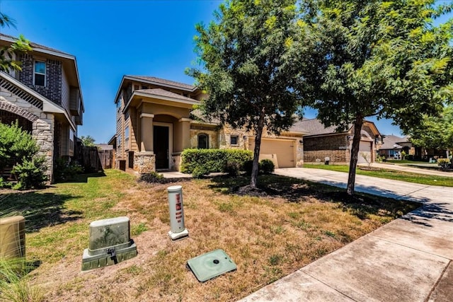
[[[21,215],[25,217],[27,233],[39,231],[46,226],[55,226],[83,218],[81,211],[67,211],[63,205],[69,194],[10,192],[1,197],[0,216]]]

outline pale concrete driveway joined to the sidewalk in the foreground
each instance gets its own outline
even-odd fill
[[[348,181],[347,173],[321,169],[275,174],[338,187]],[[453,187],[357,175],[355,188],[422,207],[241,301],[453,301]]]

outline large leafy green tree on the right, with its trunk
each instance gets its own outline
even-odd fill
[[[366,117],[411,129],[451,98],[452,21],[434,25],[451,8],[435,0],[311,1],[294,49],[310,49],[315,70],[304,81],[313,88],[321,122],[354,126],[348,194],[355,189]]]

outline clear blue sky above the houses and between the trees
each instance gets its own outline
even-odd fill
[[[209,23],[220,3],[0,0],[0,11],[16,20],[16,28],[0,30],[76,56],[85,105],[79,137],[105,143],[115,134],[114,98],[123,75],[194,82],[184,70],[196,59],[195,24]],[[401,134],[389,120],[374,121],[382,134]]]

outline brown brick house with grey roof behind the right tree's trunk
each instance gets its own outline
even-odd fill
[[[332,164],[349,163],[354,127],[348,128],[348,131],[336,132],[336,127],[324,127],[317,119],[304,119],[294,124],[292,129],[308,132],[304,136],[304,163],[324,163],[327,158]],[[360,134],[357,163],[372,163],[382,141],[381,134],[369,121],[364,121]]]

